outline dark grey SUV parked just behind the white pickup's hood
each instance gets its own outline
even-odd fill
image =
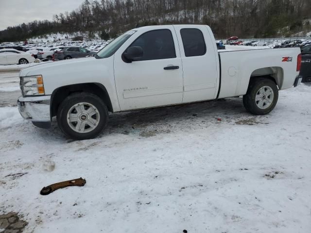
[[[55,51],[55,61],[93,56],[95,54],[96,52],[86,50],[82,47],[64,47],[62,50]]]

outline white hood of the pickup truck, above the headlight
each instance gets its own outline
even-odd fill
[[[86,58],[79,58],[79,59],[70,59],[70,60],[62,60],[57,62],[49,62],[44,64],[38,64],[32,67],[28,67],[22,69],[20,71],[20,76],[31,76],[31,75],[44,75],[46,72],[53,72],[53,73],[64,73],[66,70],[70,70],[72,68],[79,69],[86,68],[86,66],[96,62],[95,57],[86,57]]]

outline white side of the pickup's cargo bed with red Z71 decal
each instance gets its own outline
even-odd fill
[[[244,95],[252,76],[269,75],[280,90],[293,86],[299,48],[219,51],[220,90],[218,98]],[[247,64],[247,65],[245,65]]]

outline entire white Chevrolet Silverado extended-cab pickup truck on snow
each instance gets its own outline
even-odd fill
[[[243,96],[255,115],[269,113],[278,90],[301,82],[299,48],[218,52],[206,25],[133,29],[95,57],[21,70],[21,116],[49,128],[53,116],[70,138],[96,137],[108,112]]]

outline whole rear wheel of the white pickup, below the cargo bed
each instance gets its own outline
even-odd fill
[[[276,106],[278,89],[269,78],[254,78],[243,96],[245,109],[254,115],[266,115]]]

